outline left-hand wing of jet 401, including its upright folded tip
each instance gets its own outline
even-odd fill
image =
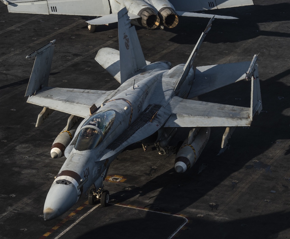
[[[32,52],[26,58],[36,57],[25,96],[28,103],[43,106],[79,117],[88,116],[106,99],[110,99],[115,90],[82,90],[48,87],[55,40]]]

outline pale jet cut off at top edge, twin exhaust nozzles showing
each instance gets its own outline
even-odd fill
[[[97,25],[117,22],[117,12],[126,7],[132,23],[145,28],[174,28],[178,16],[208,17],[213,15],[194,11],[218,8],[231,8],[253,5],[252,0],[0,0],[7,5],[9,12],[34,14],[64,14],[97,16],[87,21],[90,32],[95,32]],[[237,19],[218,16],[215,18]]]

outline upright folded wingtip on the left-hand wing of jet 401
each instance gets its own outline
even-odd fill
[[[50,41],[50,43],[37,49],[26,57],[26,59],[28,59],[35,56],[36,59],[34,61],[25,96],[34,95],[35,92],[41,88],[48,86],[54,43],[55,40]]]

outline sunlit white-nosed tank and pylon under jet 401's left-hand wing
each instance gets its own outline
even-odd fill
[[[59,135],[57,135],[57,137],[53,141],[50,150],[50,156],[52,158],[60,158],[64,156],[64,151],[73,139],[75,131],[77,130],[77,127],[81,122],[81,120],[77,122],[79,118],[80,117],[77,117],[75,115],[71,115],[68,118],[68,123],[66,127],[59,133]]]

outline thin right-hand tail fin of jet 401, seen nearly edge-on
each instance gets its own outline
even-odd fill
[[[185,66],[184,66],[184,68],[183,68],[182,76],[180,77],[179,82],[178,82],[178,84],[176,85],[175,89],[178,88],[178,86],[179,86],[180,84],[182,84],[183,81],[186,79],[186,76],[188,75],[189,70],[190,70],[190,68],[191,68],[192,65],[193,65],[193,61],[194,61],[194,59],[195,59],[196,53],[197,53],[197,51],[199,50],[199,48],[200,48],[200,46],[201,46],[201,44],[202,44],[202,42],[203,42],[203,40],[204,40],[204,37],[206,36],[206,34],[207,34],[207,33],[209,32],[209,30],[211,29],[211,23],[212,23],[212,21],[213,21],[214,19],[215,19],[215,16],[213,16],[213,17],[211,18],[211,20],[209,20],[209,23],[207,24],[207,26],[206,26],[204,32],[202,32],[202,35],[201,35],[200,38],[198,39],[198,41],[197,41],[195,47],[193,48],[193,51],[191,52],[191,54],[190,54],[190,56],[189,56],[187,62],[185,63]]]

